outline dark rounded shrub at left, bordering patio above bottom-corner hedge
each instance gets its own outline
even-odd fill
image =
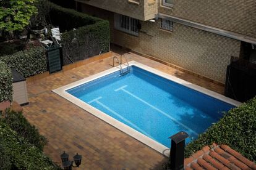
[[[47,144],[46,138],[40,135],[38,129],[30,124],[21,112],[8,111],[2,121],[40,150]]]

